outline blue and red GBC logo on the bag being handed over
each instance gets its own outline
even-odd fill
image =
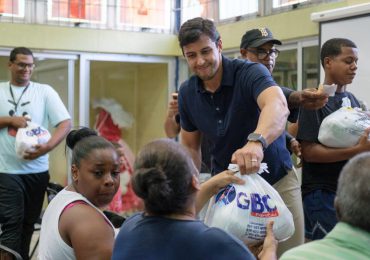
[[[251,215],[260,218],[277,217],[279,212],[276,205],[272,204],[270,195],[251,193],[249,196],[245,192],[235,191],[234,186],[227,186],[216,195],[216,203],[228,205],[236,198],[236,205],[242,210],[251,210]]]

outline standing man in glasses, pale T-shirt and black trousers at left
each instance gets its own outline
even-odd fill
[[[25,47],[11,51],[11,79],[0,83],[0,244],[29,259],[33,227],[38,220],[49,182],[48,152],[71,128],[70,115],[56,91],[32,82],[33,53]],[[27,115],[27,117],[26,117]],[[15,151],[16,133],[27,121],[56,129],[45,144],[34,146],[23,158]],[[0,251],[1,259],[12,259]]]

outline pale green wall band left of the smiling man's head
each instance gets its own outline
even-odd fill
[[[174,56],[175,35],[0,23],[0,46],[31,49]]]

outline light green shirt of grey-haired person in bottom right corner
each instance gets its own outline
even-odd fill
[[[293,248],[280,258],[288,259],[370,259],[370,233],[339,222],[325,238]]]

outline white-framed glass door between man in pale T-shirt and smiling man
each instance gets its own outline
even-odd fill
[[[169,90],[175,86],[175,67],[175,58],[82,54],[80,125],[95,127],[102,107],[94,104],[112,100],[133,118],[131,126],[119,131],[134,154],[150,140],[164,137],[163,123]]]

